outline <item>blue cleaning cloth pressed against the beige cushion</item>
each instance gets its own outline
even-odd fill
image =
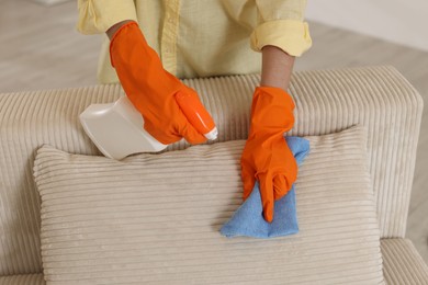
[[[285,139],[297,164],[301,166],[309,152],[309,141],[301,137],[286,137]],[[247,236],[261,239],[297,233],[294,184],[284,197],[274,202],[273,220],[269,224],[263,218],[259,184],[256,182],[250,196],[223,225],[221,232],[228,238]]]

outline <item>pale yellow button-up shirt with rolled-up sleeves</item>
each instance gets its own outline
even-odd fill
[[[78,0],[77,29],[98,34],[135,20],[177,77],[245,75],[260,72],[260,53],[254,50],[266,45],[292,56],[311,47],[305,7],[306,0]],[[98,70],[100,82],[119,81],[106,36]]]

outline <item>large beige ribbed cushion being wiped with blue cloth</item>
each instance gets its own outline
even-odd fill
[[[49,284],[383,281],[360,127],[307,137],[296,182],[300,232],[227,239],[241,204],[244,140],[123,161],[38,149],[42,260]]]

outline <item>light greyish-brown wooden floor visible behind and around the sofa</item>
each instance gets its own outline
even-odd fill
[[[101,36],[76,32],[76,1],[43,7],[0,0],[0,92],[97,83]],[[428,102],[428,53],[311,23],[313,48],[295,70],[391,65]],[[424,113],[407,237],[428,262],[428,112]]]

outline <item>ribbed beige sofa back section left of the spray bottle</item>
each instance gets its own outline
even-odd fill
[[[119,86],[0,95],[0,275],[42,272],[40,201],[32,179],[35,150],[44,142],[97,153],[78,114],[114,101]]]

